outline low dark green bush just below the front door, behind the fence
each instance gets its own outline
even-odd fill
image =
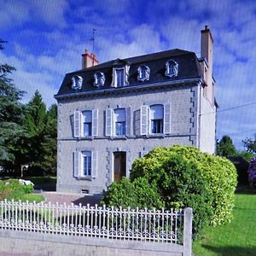
[[[139,177],[132,183],[128,178],[123,177],[119,182],[112,183],[101,203],[108,207],[164,207],[163,202],[160,201],[156,184],[149,184],[144,177]]]

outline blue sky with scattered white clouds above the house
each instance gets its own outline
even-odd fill
[[[219,104],[217,137],[237,148],[256,132],[256,1],[235,0],[7,0],[0,3],[0,38],[8,41],[0,62],[16,67],[15,85],[27,102],[39,90],[55,103],[65,73],[81,68],[84,49],[99,61],[166,49],[200,56],[201,29],[214,38],[213,73]],[[222,111],[222,112],[221,112]]]

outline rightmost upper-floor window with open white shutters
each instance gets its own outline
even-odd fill
[[[140,134],[170,134],[171,104],[143,105],[140,111]]]

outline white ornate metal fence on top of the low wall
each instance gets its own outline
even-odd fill
[[[5,200],[0,201],[0,230],[183,244],[188,210],[190,219],[190,208],[174,212]]]

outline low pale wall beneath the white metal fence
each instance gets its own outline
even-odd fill
[[[139,241],[116,241],[25,231],[0,230],[0,255],[26,256],[183,256],[183,247]],[[186,254],[188,255],[188,254]]]

